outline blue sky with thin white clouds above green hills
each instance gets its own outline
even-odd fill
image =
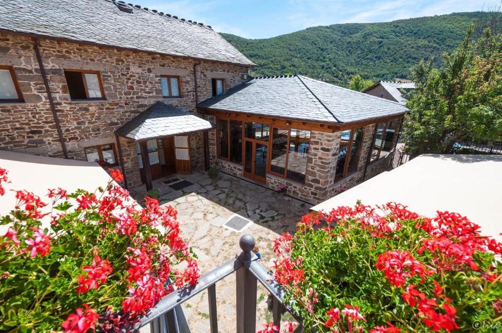
[[[159,12],[202,22],[217,32],[269,38],[335,23],[389,22],[480,11],[499,0],[134,0]]]

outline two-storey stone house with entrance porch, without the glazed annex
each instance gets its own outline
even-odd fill
[[[246,81],[256,66],[210,26],[123,2],[7,0],[0,10],[8,13],[0,20],[0,149],[121,164],[130,187],[203,170],[211,126],[192,126],[197,102]],[[117,132],[158,102],[177,117],[141,139],[130,126]]]

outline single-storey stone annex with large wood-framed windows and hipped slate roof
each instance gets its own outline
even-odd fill
[[[250,80],[199,104],[210,164],[318,203],[383,172],[408,109],[304,76]]]

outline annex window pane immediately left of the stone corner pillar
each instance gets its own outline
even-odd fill
[[[305,182],[309,146],[310,131],[291,129],[288,152],[288,179],[300,183]]]

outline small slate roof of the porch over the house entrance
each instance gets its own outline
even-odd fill
[[[214,128],[214,125],[164,102],[157,102],[115,131],[133,140],[178,135]]]

